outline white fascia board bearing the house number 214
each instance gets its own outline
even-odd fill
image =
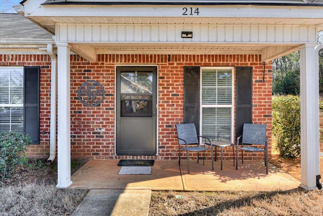
[[[42,5],[31,13],[25,13],[25,16],[323,18],[323,7],[185,5],[187,8],[199,8],[199,14],[191,16],[183,15],[183,7],[183,5]]]

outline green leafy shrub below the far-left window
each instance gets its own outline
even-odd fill
[[[17,165],[25,165],[26,151],[31,138],[21,132],[0,132],[0,177],[4,180],[13,174]]]

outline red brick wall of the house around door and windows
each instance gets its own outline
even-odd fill
[[[40,145],[29,148],[31,157],[49,154],[50,58],[46,55],[0,55],[1,65],[41,66]],[[115,156],[115,66],[150,64],[158,67],[158,156]],[[272,125],[272,66],[263,64],[259,55],[97,55],[97,62],[71,56],[71,157],[88,159],[161,159],[177,160],[175,124],[183,122],[184,66],[252,66],[253,122]],[[81,83],[94,79],[105,90],[104,101],[86,107],[78,100]],[[271,150],[271,140],[269,143]],[[271,151],[270,151],[271,152]],[[232,159],[226,149],[225,159]],[[249,153],[246,159],[260,159]],[[193,157],[194,158],[194,157]],[[210,158],[208,158],[210,159]]]

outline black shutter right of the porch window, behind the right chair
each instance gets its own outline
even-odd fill
[[[252,67],[236,67],[236,137],[252,121]]]

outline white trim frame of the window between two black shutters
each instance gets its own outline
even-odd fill
[[[232,102],[231,105],[202,105],[202,71],[204,69],[231,69],[232,70]],[[235,70],[234,67],[200,67],[200,75],[199,75],[199,134],[202,134],[202,109],[203,108],[231,108],[231,143],[234,143],[234,99],[235,99],[235,92],[234,92],[234,83],[235,83]],[[200,138],[201,143],[201,138]]]

